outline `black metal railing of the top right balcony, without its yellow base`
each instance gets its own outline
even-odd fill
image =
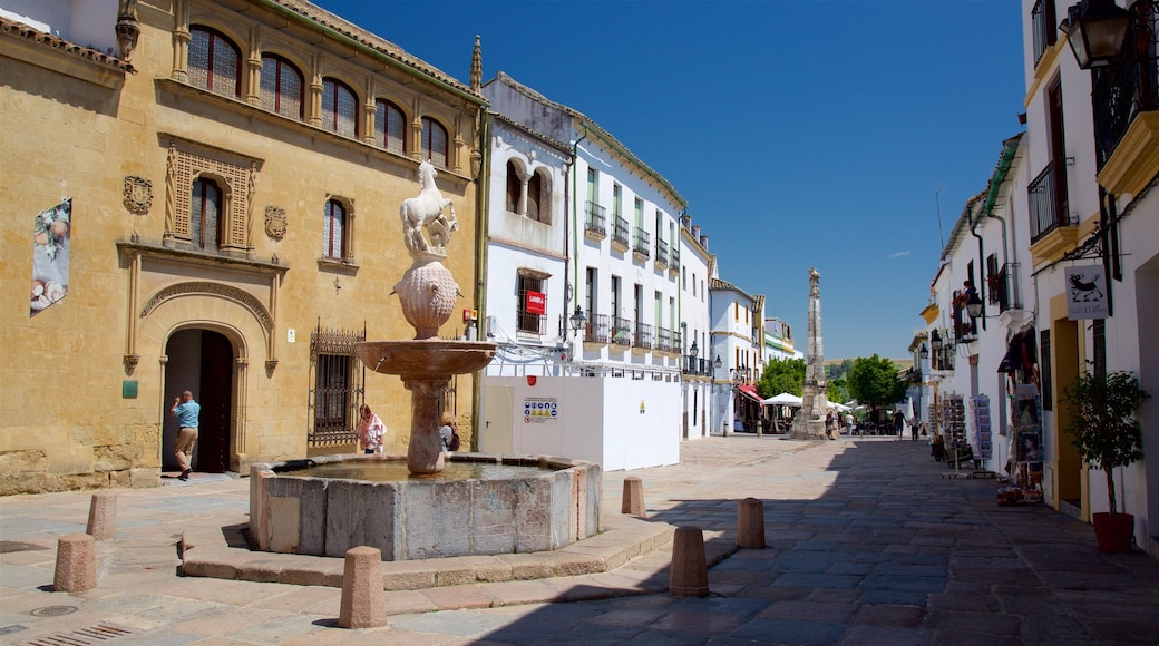
[[[1095,162],[1100,170],[1135,117],[1159,110],[1159,3],[1136,0],[1131,8],[1123,63],[1095,68],[1091,76]]]

